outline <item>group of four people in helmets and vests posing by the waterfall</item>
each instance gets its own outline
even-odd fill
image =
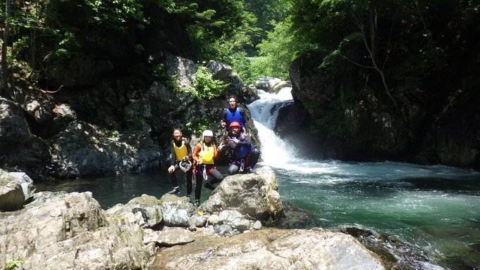
[[[173,190],[168,194],[180,193],[176,172],[179,170],[185,172],[187,177],[187,199],[192,200],[192,176],[195,172],[195,206],[200,205],[200,194],[202,192],[202,183],[205,180],[205,188],[212,191],[214,184],[223,180],[223,175],[217,170],[215,160],[219,158],[219,153],[228,149],[232,160],[228,167],[228,174],[250,173],[254,174],[253,167],[257,164],[260,156],[260,150],[252,144],[248,128],[248,118],[245,110],[238,107],[237,97],[228,97],[228,108],[223,110],[221,117],[221,127],[228,127],[226,138],[220,143],[219,147],[214,142],[214,133],[211,130],[205,130],[202,133],[202,139],[197,143],[193,152],[190,143],[183,138],[182,130],[173,129],[173,141],[171,141],[171,165],[168,167],[168,174],[173,184]],[[208,181],[209,176],[213,179]]]

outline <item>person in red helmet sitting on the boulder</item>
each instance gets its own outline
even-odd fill
[[[254,174],[256,172],[253,167],[257,165],[260,150],[253,146],[250,134],[245,131],[240,132],[240,128],[241,124],[239,122],[230,123],[227,141],[233,161],[228,167],[228,174],[233,175],[239,172]]]

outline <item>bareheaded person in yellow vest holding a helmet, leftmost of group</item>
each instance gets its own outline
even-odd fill
[[[175,172],[181,170],[187,176],[187,198],[190,201],[190,194],[192,193],[192,147],[190,143],[182,137],[182,130],[179,128],[173,129],[173,140],[170,143],[170,167],[168,167],[168,174],[172,181],[173,190],[168,191],[168,194],[180,193],[178,187],[177,176]]]

